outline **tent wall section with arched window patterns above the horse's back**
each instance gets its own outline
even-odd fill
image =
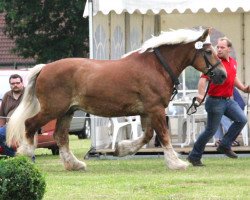
[[[98,13],[93,18],[93,56],[95,59],[119,59],[135,50],[155,33],[155,16],[122,13]]]

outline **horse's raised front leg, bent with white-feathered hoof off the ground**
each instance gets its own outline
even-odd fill
[[[115,156],[133,155],[151,140],[153,129],[150,126],[150,119],[141,116],[141,125],[144,133],[135,140],[123,140],[119,142],[114,152]]]

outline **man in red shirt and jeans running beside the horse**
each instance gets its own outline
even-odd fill
[[[223,115],[232,120],[228,132],[221,139],[217,151],[224,153],[230,158],[237,158],[237,154],[232,151],[231,145],[237,138],[245,124],[247,118],[240,108],[239,104],[232,99],[233,88],[236,86],[239,90],[250,93],[250,86],[243,85],[236,76],[237,62],[230,57],[232,48],[231,41],[226,38],[219,38],[217,42],[217,55],[221,59],[226,71],[227,79],[221,85],[210,84],[208,97],[205,102],[207,111],[207,125],[205,130],[199,135],[194,143],[193,149],[187,157],[187,160],[193,166],[204,166],[201,157],[207,142],[214,136],[219,127]],[[198,83],[198,101],[202,101],[209,77],[202,75]]]

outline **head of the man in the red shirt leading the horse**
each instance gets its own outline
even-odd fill
[[[218,57],[228,60],[231,52],[231,47],[232,47],[232,42],[228,38],[226,37],[219,38],[217,43]]]

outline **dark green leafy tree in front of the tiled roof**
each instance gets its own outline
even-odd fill
[[[15,53],[37,62],[83,57],[88,52],[86,0],[0,0],[5,34],[15,39]]]

